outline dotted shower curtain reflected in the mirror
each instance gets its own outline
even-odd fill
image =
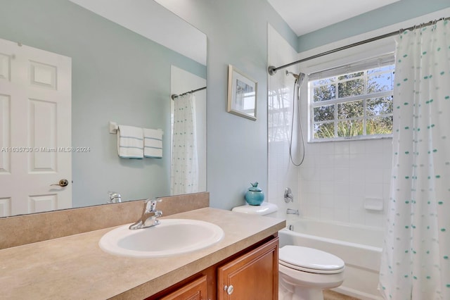
[[[170,194],[198,192],[195,96],[186,94],[174,100]]]

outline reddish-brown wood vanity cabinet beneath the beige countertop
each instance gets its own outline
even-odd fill
[[[147,300],[276,300],[278,237],[241,251]]]

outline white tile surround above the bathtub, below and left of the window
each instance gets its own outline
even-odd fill
[[[283,65],[297,59],[295,51],[269,25],[269,65]],[[288,69],[298,72],[296,68]],[[283,103],[288,111],[292,109],[293,77],[285,76],[284,70],[269,76],[269,94],[271,91],[285,92]],[[304,134],[307,135],[306,89],[303,92],[300,110]],[[278,112],[270,103],[271,99],[269,116]],[[290,118],[290,114],[288,116]],[[285,133],[290,132],[290,123],[286,125],[281,120],[271,118],[268,122],[267,196],[280,208],[278,216],[285,218],[285,208],[295,208],[308,218],[383,227],[390,194],[392,139],[306,143],[304,163],[295,167],[289,162],[288,135],[277,135],[283,138],[273,139],[271,130],[275,127]],[[293,203],[285,204],[285,187],[293,189]],[[366,211],[363,204],[367,197],[383,199],[384,210]]]

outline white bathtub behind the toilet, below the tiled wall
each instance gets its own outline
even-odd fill
[[[288,220],[286,224],[287,227],[278,232],[280,247],[307,246],[345,261],[345,280],[334,289],[336,292],[359,299],[383,299],[377,289],[383,230],[304,218]]]

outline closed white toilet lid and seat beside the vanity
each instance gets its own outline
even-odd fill
[[[278,258],[282,265],[310,273],[340,273],[345,268],[338,256],[302,246],[283,246]]]

